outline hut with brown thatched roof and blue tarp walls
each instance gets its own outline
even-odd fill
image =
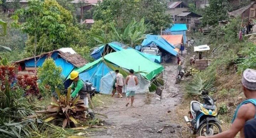
[[[43,65],[44,60],[52,58],[55,61],[56,66],[62,68],[61,74],[66,78],[74,68],[84,66],[87,61],[77,54],[72,48],[61,48],[51,52],[46,52],[36,56],[36,67]],[[34,75],[35,59],[34,57],[15,61],[14,64],[21,66],[24,65],[24,70],[18,71],[19,74]]]

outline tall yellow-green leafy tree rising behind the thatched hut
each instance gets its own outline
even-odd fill
[[[20,28],[28,34],[28,53],[37,55],[61,47],[70,47],[79,41],[78,35],[81,32],[73,25],[71,12],[55,0],[31,0],[28,8],[17,10],[16,14],[25,18]]]

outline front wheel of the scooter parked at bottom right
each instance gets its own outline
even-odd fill
[[[218,123],[211,121],[208,124],[209,124],[209,132],[206,132],[207,124],[204,123],[201,125],[198,131],[198,134],[200,136],[211,136],[211,135],[216,135],[222,132],[221,127]]]

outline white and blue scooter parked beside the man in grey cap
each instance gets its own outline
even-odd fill
[[[220,121],[217,119],[217,109],[215,101],[208,92],[202,91],[201,98],[204,99],[204,104],[198,101],[191,101],[190,120],[188,116],[184,116],[185,121],[190,128],[192,134],[198,133],[200,136],[211,136],[221,133]]]

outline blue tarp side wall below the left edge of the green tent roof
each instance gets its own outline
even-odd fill
[[[98,64],[96,64],[95,66],[93,66],[92,68],[90,68],[82,73],[79,73],[79,78],[81,78],[83,81],[89,80],[90,82],[92,82],[93,86],[95,86],[97,88],[97,92],[99,92],[100,91],[100,80],[109,71],[112,71],[112,70],[109,67],[107,67],[106,64],[100,60],[100,62]]]

